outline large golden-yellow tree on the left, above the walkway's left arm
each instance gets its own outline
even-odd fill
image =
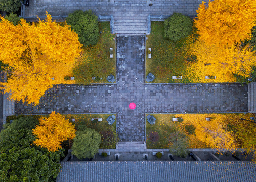
[[[39,99],[53,84],[70,75],[81,44],[70,26],[60,26],[47,13],[46,21],[17,26],[0,16],[0,60],[11,69],[2,85],[12,91],[11,99],[39,104]]]

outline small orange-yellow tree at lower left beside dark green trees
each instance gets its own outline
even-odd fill
[[[39,125],[33,129],[33,134],[37,137],[33,141],[36,146],[55,152],[61,148],[61,142],[75,137],[75,126],[65,116],[55,114],[55,111],[48,118],[42,117],[39,121]]]

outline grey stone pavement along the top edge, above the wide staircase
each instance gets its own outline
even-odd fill
[[[149,3],[152,6],[149,6]],[[114,19],[146,19],[151,15],[174,12],[195,17],[201,0],[34,0],[25,8],[25,16],[67,16],[75,10],[91,9],[96,15],[113,15]]]

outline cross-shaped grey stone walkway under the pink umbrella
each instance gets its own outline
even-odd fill
[[[121,141],[145,141],[145,113],[247,112],[247,85],[145,84],[145,36],[117,36],[116,84],[54,85],[38,106],[16,114],[116,113]],[[134,110],[129,103],[136,103]]]

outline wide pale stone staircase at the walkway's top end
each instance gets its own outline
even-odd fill
[[[115,33],[141,35],[147,31],[146,19],[115,19]]]

